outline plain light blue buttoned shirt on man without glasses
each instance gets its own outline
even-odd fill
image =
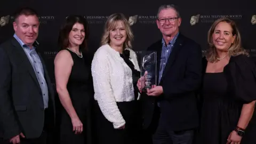
[[[47,83],[44,78],[44,68],[43,68],[42,62],[36,52],[36,49],[34,46],[32,49],[30,49],[25,43],[23,43],[21,41],[21,39],[16,34],[14,34],[13,37],[15,39],[17,39],[17,41],[20,43],[21,47],[25,51],[25,53],[31,63],[31,66],[33,67],[33,69],[35,71],[37,81],[41,87],[42,94],[43,94],[44,108],[47,108],[48,101],[49,101],[48,87],[47,87]]]

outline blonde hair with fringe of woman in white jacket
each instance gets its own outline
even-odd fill
[[[124,42],[123,49],[132,48],[132,40],[133,40],[132,29],[123,13],[114,13],[108,17],[108,19],[105,23],[103,36],[101,38],[101,45],[110,43],[109,31],[112,29],[115,29],[115,27],[117,26],[117,22],[119,22],[119,21],[123,22],[124,28],[126,30],[126,35],[127,35],[125,42]]]

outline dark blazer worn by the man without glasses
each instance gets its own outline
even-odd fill
[[[54,126],[54,91],[42,58],[41,61],[49,90],[47,121]],[[38,138],[44,117],[43,95],[35,71],[13,37],[0,45],[0,138],[10,139],[20,132],[28,139]]]

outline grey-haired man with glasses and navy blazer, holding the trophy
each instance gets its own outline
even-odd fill
[[[147,49],[157,52],[157,85],[141,96],[143,128],[154,133],[154,144],[190,144],[199,122],[196,91],[201,85],[201,46],[179,33],[181,18],[175,5],[159,7],[157,16],[163,38]]]

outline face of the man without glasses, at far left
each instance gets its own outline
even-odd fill
[[[20,15],[13,22],[15,34],[23,43],[32,46],[38,37],[39,21],[36,15]]]

